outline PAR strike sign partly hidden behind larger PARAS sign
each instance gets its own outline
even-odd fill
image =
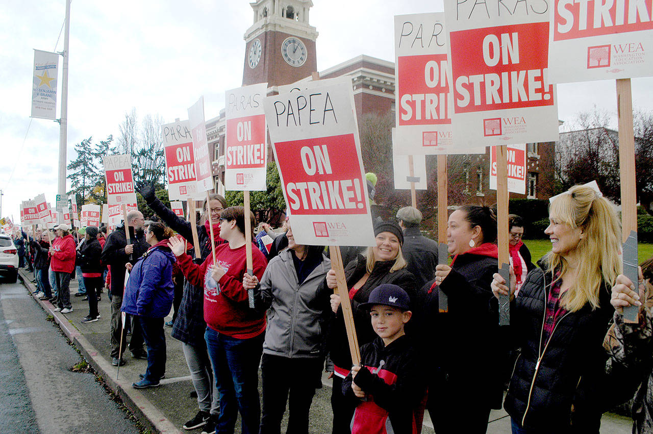
[[[453,146],[444,20],[441,12],[394,17],[396,155],[467,152]]]

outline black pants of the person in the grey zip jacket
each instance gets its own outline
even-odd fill
[[[286,401],[289,413],[286,433],[308,433],[308,413],[322,366],[322,358],[287,358],[263,354],[263,415],[260,434],[281,432]]]

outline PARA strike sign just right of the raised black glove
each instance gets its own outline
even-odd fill
[[[197,194],[193,136],[188,121],[167,123],[161,127],[165,150],[165,173],[168,179],[168,198],[186,200]],[[204,193],[204,192],[202,192]],[[204,198],[204,194],[202,194]]]

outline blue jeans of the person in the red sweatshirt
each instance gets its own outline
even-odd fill
[[[216,433],[234,432],[239,411],[242,433],[259,432],[259,362],[264,337],[265,333],[261,333],[249,339],[236,339],[206,328],[204,339],[220,394]]]

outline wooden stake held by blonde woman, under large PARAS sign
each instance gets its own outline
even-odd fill
[[[499,273],[510,282],[510,256],[508,254],[508,150],[496,147],[496,209],[497,245],[499,247]],[[510,297],[499,298],[499,325],[510,324]]]

